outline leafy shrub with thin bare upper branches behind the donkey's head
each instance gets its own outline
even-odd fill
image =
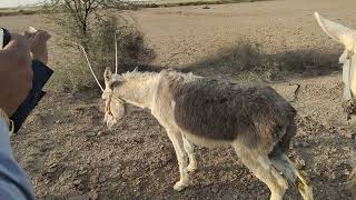
[[[90,2],[53,0],[47,6],[47,13],[55,13],[50,19],[61,28],[60,34],[67,41],[67,51],[69,46],[76,47],[73,42],[81,44],[101,81],[105,68],[115,68],[115,36],[118,41],[119,72],[154,60],[154,51],[146,47],[142,33],[134,24],[129,24],[129,20],[110,14],[112,10],[105,7],[105,1]],[[75,3],[80,3],[81,7]],[[60,81],[61,87],[71,92],[97,88],[82,52],[78,49],[68,56],[70,58],[67,59],[66,67],[57,70],[55,82]]]

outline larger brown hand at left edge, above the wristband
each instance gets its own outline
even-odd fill
[[[0,50],[0,108],[10,117],[32,88],[31,56],[28,38],[11,34]]]

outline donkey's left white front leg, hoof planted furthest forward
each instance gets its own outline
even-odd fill
[[[167,133],[176,150],[178,166],[179,166],[179,173],[180,173],[180,180],[176,182],[176,184],[174,186],[174,189],[177,191],[181,191],[185,188],[187,188],[189,183],[188,169],[187,169],[187,166],[188,166],[187,153],[185,151],[181,133],[178,130],[171,130],[171,129],[170,130],[167,129]]]

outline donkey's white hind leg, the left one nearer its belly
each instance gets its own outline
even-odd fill
[[[248,148],[234,146],[243,163],[270,190],[270,200],[281,200],[288,189],[287,180],[273,167],[267,156],[258,154]]]

